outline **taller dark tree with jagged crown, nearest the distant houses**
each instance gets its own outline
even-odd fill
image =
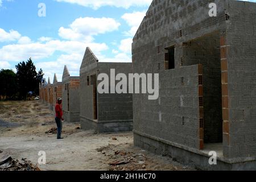
[[[30,58],[26,62],[23,61],[16,65],[16,70],[20,98],[26,99],[28,92],[39,94],[39,83],[44,75],[42,69],[37,73],[36,67]]]

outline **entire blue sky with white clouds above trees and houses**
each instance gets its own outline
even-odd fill
[[[253,0],[252,0],[253,1]],[[256,2],[255,0],[253,2]],[[46,5],[40,17],[39,3]],[[86,47],[100,61],[131,61],[132,38],[151,0],[0,0],[0,69],[32,57],[45,77],[73,76]]]

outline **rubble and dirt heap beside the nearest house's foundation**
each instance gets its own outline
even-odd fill
[[[110,138],[111,140],[111,138]],[[132,143],[112,144],[96,149],[105,156],[104,164],[109,171],[191,171],[195,170],[183,166],[171,158],[156,156],[139,148]]]

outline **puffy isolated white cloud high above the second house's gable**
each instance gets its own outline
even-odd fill
[[[118,30],[120,25],[113,18],[77,18],[69,28],[60,27],[59,36],[68,40],[92,42],[93,36]]]

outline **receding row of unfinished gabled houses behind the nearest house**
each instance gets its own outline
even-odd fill
[[[96,133],[133,130],[133,94],[99,94],[97,75],[110,69],[116,73],[130,73],[131,63],[99,63],[90,48],[86,48],[80,68],[80,76],[71,76],[64,66],[62,81],[56,74],[51,84],[40,84],[39,96],[44,104],[54,110],[57,98],[63,99],[64,119],[81,122],[82,129],[93,129]]]

